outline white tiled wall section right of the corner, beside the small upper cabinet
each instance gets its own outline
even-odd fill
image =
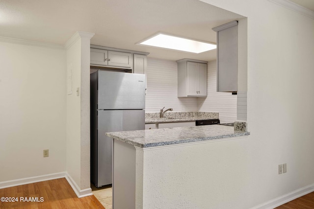
[[[216,75],[216,60],[210,61],[207,71],[207,97],[198,99],[199,111],[218,112],[221,123],[235,122],[236,95],[229,92],[216,92]]]

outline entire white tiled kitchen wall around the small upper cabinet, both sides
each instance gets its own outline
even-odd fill
[[[176,61],[147,59],[146,113],[173,108],[174,112],[218,112],[221,123],[236,120],[237,95],[216,92],[216,61],[208,63],[207,98],[178,98]]]

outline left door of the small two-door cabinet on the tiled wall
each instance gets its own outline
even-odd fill
[[[197,63],[187,62],[187,77],[186,77],[186,88],[187,96],[197,96],[198,95],[198,70]]]

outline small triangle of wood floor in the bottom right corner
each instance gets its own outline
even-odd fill
[[[292,200],[276,209],[314,209],[314,192]]]

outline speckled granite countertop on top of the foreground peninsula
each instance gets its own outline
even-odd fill
[[[139,131],[109,132],[106,136],[141,148],[182,144],[213,139],[225,139],[250,135],[235,131],[232,126],[207,125],[179,128],[164,128]]]

